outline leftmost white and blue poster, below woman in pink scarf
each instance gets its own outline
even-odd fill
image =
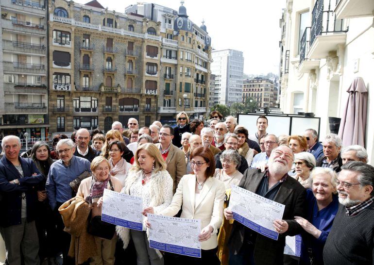
[[[104,189],[102,220],[130,229],[143,230],[143,201],[139,197]]]

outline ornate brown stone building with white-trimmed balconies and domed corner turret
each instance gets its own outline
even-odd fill
[[[175,119],[184,109],[191,116],[206,112],[207,93],[201,91],[210,58],[203,50],[210,51],[210,38],[192,26],[184,6],[177,13],[151,4],[151,14],[167,12],[147,17],[147,9],[137,5],[125,14],[96,0],[50,5],[51,130],[107,131],[113,121],[126,125],[130,117],[149,126]],[[177,20],[185,28],[178,29]],[[201,36],[194,34],[196,28]],[[205,39],[209,45],[203,45]]]

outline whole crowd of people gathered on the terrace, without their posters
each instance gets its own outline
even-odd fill
[[[9,265],[273,265],[374,264],[374,167],[366,150],[319,139],[268,133],[223,119],[176,116],[127,130],[119,121],[105,134],[79,129],[58,134],[52,149],[34,144],[19,156],[17,136],[2,139],[0,233]],[[285,205],[273,240],[234,220],[236,185]],[[102,221],[104,189],[142,198],[143,230]],[[248,205],[251,209],[251,205]],[[201,220],[201,258],[151,248],[148,214]],[[301,235],[300,257],[284,254],[286,236]]]

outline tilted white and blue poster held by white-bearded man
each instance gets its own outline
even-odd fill
[[[233,185],[229,209],[239,223],[264,236],[278,240],[279,234],[272,223],[276,219],[282,219],[284,204]]]

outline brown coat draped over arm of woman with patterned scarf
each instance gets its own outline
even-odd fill
[[[58,208],[65,224],[64,231],[71,234],[68,255],[75,257],[75,264],[82,264],[99,251],[95,237],[87,232],[91,209],[83,198],[75,197]]]

